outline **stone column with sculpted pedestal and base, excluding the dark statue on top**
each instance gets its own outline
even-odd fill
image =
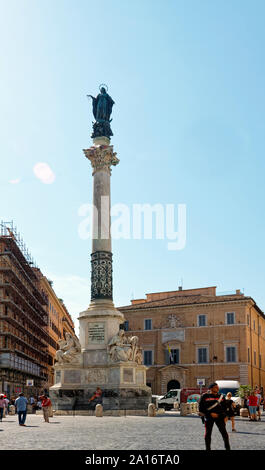
[[[91,303],[79,316],[81,352],[77,360],[62,359],[54,366],[50,398],[55,414],[89,415],[100,403],[104,415],[147,415],[151,402],[137,338],[129,340],[119,333],[124,315],[112,300],[110,167],[119,160],[109,143],[107,137],[98,137],[93,147],[84,150],[94,177]],[[97,387],[102,390],[101,399],[89,401]]]

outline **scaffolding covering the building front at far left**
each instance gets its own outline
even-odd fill
[[[10,394],[24,391],[28,379],[34,379],[35,393],[47,381],[48,297],[40,287],[41,276],[13,221],[1,221],[0,388]]]

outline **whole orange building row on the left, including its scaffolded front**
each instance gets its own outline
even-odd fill
[[[74,324],[13,223],[0,228],[0,391],[37,396],[53,384],[58,340]]]

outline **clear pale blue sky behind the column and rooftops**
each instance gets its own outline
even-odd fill
[[[1,211],[73,315],[90,301],[86,94],[107,83],[112,202],[186,204],[187,243],[114,240],[114,301],[216,285],[264,310],[265,3],[0,1]],[[55,179],[33,168],[44,162]]]

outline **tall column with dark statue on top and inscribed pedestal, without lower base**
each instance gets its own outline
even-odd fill
[[[97,356],[95,346],[103,349],[111,337],[118,333],[124,316],[115,309],[112,293],[112,252],[110,233],[110,176],[111,166],[119,163],[110,137],[110,116],[114,101],[108,95],[106,86],[100,86],[93,102],[93,146],[84,150],[90,161],[93,175],[93,236],[91,253],[91,303],[80,314],[80,343],[85,362],[94,362]],[[106,321],[108,320],[108,321]],[[101,360],[105,362],[103,350]]]

